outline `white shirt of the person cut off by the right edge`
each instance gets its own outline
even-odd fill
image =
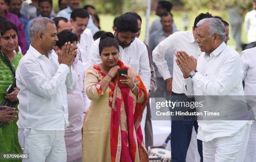
[[[244,94],[256,95],[256,47],[241,52]]]

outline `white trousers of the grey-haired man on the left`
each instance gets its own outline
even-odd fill
[[[29,159],[23,162],[67,162],[64,130],[19,129],[19,143]]]

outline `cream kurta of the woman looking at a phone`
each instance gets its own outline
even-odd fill
[[[130,67],[130,69],[132,69]],[[134,71],[134,70],[133,70]],[[129,73],[129,72],[128,72]],[[110,120],[111,107],[109,106],[109,94],[111,88],[108,87],[105,93],[100,93],[96,86],[105,74],[100,67],[94,65],[88,68],[85,75],[85,85],[87,96],[92,100],[89,109],[84,117],[83,126],[83,161],[84,162],[111,162],[110,152]],[[110,86],[114,85],[113,81]],[[136,98],[136,97],[135,97]],[[142,103],[145,100],[144,95],[136,100]],[[121,110],[122,111],[122,110]],[[121,113],[122,118],[122,113]],[[120,125],[122,127],[121,121]],[[134,130],[134,139],[136,140],[136,131]],[[120,155],[122,157],[122,155]],[[125,156],[125,155],[124,155]],[[138,145],[136,140],[136,162],[139,162]]]

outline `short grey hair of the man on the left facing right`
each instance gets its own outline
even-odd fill
[[[36,34],[40,31],[44,34],[46,33],[46,27],[48,22],[55,24],[55,22],[48,17],[39,17],[31,23],[29,27],[29,35],[31,40],[34,40]]]

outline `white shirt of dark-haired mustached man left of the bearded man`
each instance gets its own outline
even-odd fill
[[[80,42],[77,43],[77,47],[80,50],[80,61],[83,63],[84,70],[90,67],[90,48],[94,40],[90,29],[86,28],[80,36]]]

